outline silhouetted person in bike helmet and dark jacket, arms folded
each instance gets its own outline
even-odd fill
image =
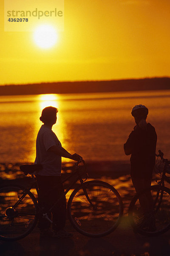
[[[148,109],[136,105],[131,112],[136,126],[124,144],[126,155],[130,155],[130,175],[136,192],[148,189],[146,195],[139,198],[145,212],[153,209],[153,198],[150,192],[152,173],[155,166],[157,135],[155,128],[146,122]]]

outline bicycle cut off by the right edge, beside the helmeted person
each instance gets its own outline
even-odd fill
[[[159,150],[156,157],[161,160],[156,166],[159,169],[160,181],[157,185],[150,186],[150,189],[144,190],[136,194],[130,202],[128,216],[133,230],[144,236],[157,236],[170,229],[170,189],[164,186],[164,180],[167,180],[166,172],[169,172],[170,161],[164,159],[164,154]],[[162,170],[163,164],[163,170]],[[142,209],[139,198],[146,197],[147,192],[151,192],[153,197],[152,209],[144,212]]]

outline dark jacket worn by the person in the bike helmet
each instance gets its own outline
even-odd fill
[[[130,157],[131,172],[134,177],[151,177],[155,165],[157,135],[155,128],[147,123],[144,130],[135,126],[124,144],[125,154]]]

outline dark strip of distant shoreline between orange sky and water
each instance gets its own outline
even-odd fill
[[[170,78],[123,79],[111,81],[74,81],[0,86],[0,95],[48,93],[99,93],[138,90],[169,90]]]

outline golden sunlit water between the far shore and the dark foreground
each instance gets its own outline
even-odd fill
[[[34,162],[43,108],[59,109],[53,131],[71,154],[87,161],[128,160],[123,144],[135,123],[136,104],[149,108],[157,149],[170,158],[170,90],[0,96],[0,163]],[[63,159],[64,160],[64,159]]]

